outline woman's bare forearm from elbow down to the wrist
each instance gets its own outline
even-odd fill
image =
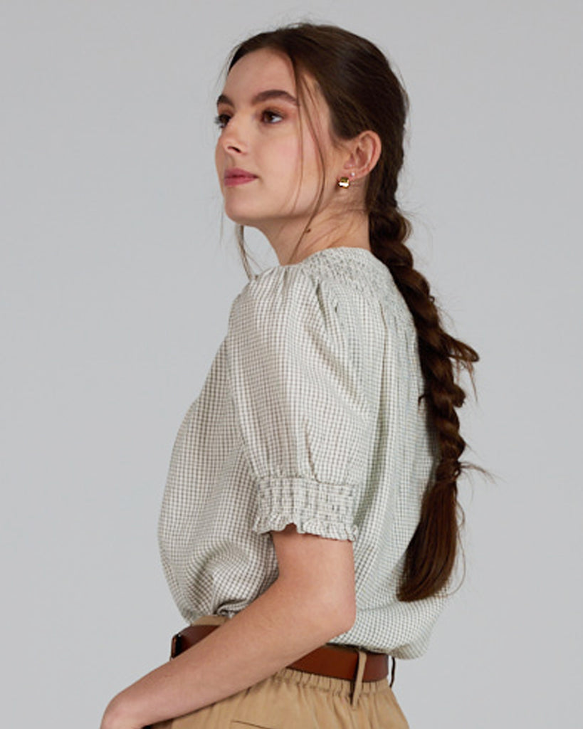
[[[102,729],[133,729],[194,712],[272,676],[350,628],[323,596],[279,578],[203,641],[109,703]]]

